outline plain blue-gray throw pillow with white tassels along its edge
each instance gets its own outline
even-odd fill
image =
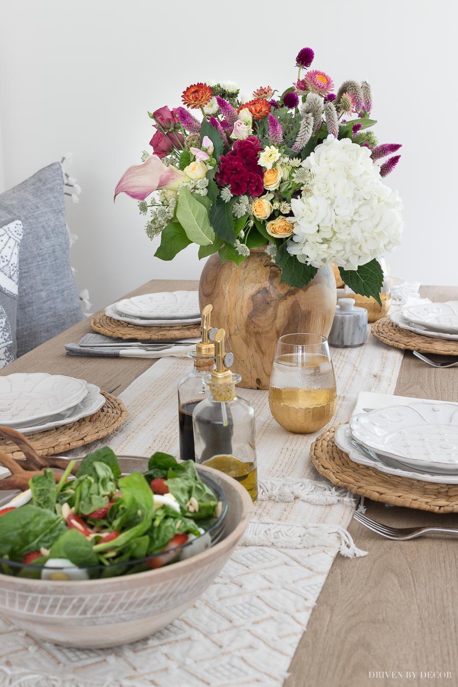
[[[70,267],[58,162],[0,194],[0,225],[12,219],[23,224],[16,330],[20,356],[83,319]]]

